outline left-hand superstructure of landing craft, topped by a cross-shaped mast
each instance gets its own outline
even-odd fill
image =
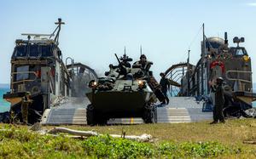
[[[68,58],[72,61],[69,65],[68,59],[66,64],[62,60],[58,45],[61,25],[64,24],[58,19],[52,34],[22,34],[27,39],[15,41],[10,92],[3,95],[3,99],[11,104],[10,111],[0,114],[0,122],[10,122],[13,117],[22,122],[21,99],[26,92],[32,94],[28,122],[34,123],[40,121],[44,111],[54,106],[59,97],[78,96],[89,90],[86,86],[97,77],[96,72],[87,65],[74,63],[71,58]],[[79,86],[84,86],[83,93],[78,92]]]

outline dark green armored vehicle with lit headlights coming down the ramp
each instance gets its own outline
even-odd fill
[[[149,71],[152,62],[142,67],[138,62],[131,66],[131,58],[123,55],[119,65],[109,65],[106,77],[90,82],[91,92],[87,106],[89,125],[106,124],[110,118],[142,117],[145,123],[157,122],[155,89],[158,83]]]

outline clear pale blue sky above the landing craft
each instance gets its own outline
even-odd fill
[[[20,33],[51,33],[61,18],[60,48],[64,59],[73,57],[100,75],[114,53],[133,60],[143,54],[153,61],[154,76],[185,62],[188,49],[196,64],[201,54],[201,26],[207,37],[245,37],[253,72],[256,71],[256,0],[1,0],[0,83],[9,83],[10,57]],[[256,82],[256,72],[253,73]]]

